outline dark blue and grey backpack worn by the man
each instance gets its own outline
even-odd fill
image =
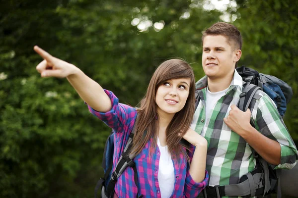
[[[242,77],[242,80],[246,82],[246,84],[243,85],[243,90],[240,94],[240,99],[237,105],[240,110],[246,111],[247,108],[249,108],[251,105],[254,105],[255,99],[260,98],[260,96],[257,94],[257,91],[260,90],[266,93],[275,102],[281,117],[285,115],[287,104],[290,102],[293,96],[292,88],[287,83],[276,78],[275,76],[262,74],[254,69],[244,67],[244,65],[236,68],[236,70]],[[250,123],[253,127],[255,127],[253,122]],[[255,151],[254,156],[257,160],[257,166],[254,171],[261,171],[263,173],[262,179],[267,181],[265,182],[265,186],[263,188],[257,189],[260,191],[260,193],[264,192],[264,194],[261,195],[277,193],[278,197],[281,197],[282,192],[287,194],[287,192],[291,189],[284,188],[284,185],[281,185],[281,178],[285,178],[286,174],[289,175],[289,172],[294,175],[298,175],[298,166],[295,166],[291,170],[286,170],[285,173],[282,174],[283,171],[281,169],[274,170]],[[261,166],[258,167],[258,165]],[[242,178],[242,181],[244,178]],[[293,179],[295,179],[296,182]],[[284,179],[282,179],[282,181],[283,180]],[[242,181],[240,179],[239,183]],[[297,183],[298,178],[292,178],[291,182]],[[296,196],[298,196],[298,194]]]

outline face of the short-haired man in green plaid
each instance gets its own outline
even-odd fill
[[[241,50],[232,49],[224,36],[208,35],[204,38],[202,65],[211,80],[224,80],[227,76],[232,76],[240,56]]]

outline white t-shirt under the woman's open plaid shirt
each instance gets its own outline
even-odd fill
[[[171,154],[167,146],[160,146],[159,138],[157,145],[160,151],[159,167],[158,167],[158,185],[160,188],[161,198],[169,198],[174,191],[175,173]]]

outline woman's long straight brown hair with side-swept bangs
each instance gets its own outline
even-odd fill
[[[178,78],[190,78],[189,95],[185,106],[175,113],[166,128],[166,143],[171,156],[178,156],[183,153],[188,159],[185,149],[183,149],[185,146],[180,141],[189,129],[195,111],[195,77],[191,66],[180,59],[170,59],[161,63],[150,80],[147,93],[137,109],[138,117],[135,123],[135,136],[131,151],[133,156],[142,151],[151,137],[153,137],[153,144],[150,147],[156,147],[159,126],[155,95],[162,83]],[[181,136],[178,136],[179,133],[181,133]]]

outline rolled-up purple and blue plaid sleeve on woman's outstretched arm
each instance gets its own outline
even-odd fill
[[[104,90],[104,92],[111,99],[111,110],[107,112],[99,112],[88,105],[89,111],[101,119],[106,125],[111,127],[115,132],[124,131],[123,127],[126,127],[127,122],[136,116],[136,109],[129,105],[119,103],[119,99],[111,91]]]

